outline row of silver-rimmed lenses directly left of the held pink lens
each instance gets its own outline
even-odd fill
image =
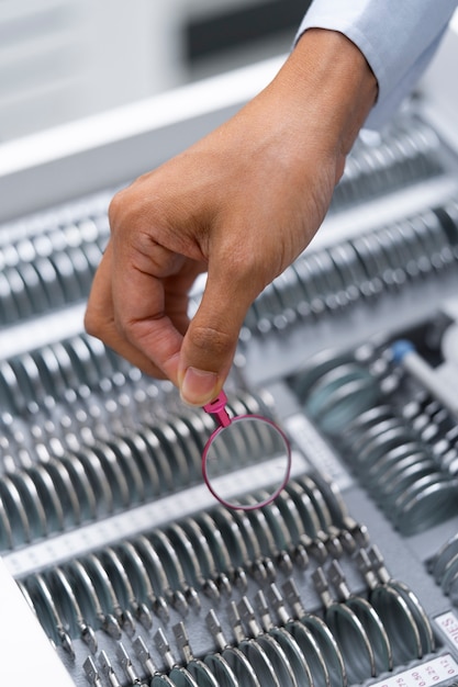
[[[185,453],[172,426],[145,427],[5,472],[0,481],[1,550],[148,503],[182,488],[185,481],[186,486],[196,483],[200,454],[188,439]]]

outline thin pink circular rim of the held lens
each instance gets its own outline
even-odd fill
[[[282,438],[286,452],[287,452],[287,468],[284,470],[284,475],[283,475],[282,481],[280,482],[279,486],[275,489],[275,492],[272,492],[272,494],[270,494],[264,500],[256,502],[256,504],[235,504],[231,500],[223,498],[213,488],[212,482],[209,477],[208,470],[206,470],[206,458],[208,458],[210,448],[213,444],[213,441],[224,429],[227,429],[233,423],[239,423],[241,420],[244,420],[244,419],[260,420],[262,423],[266,423],[267,425],[270,425],[270,427],[272,427]],[[284,489],[290,478],[291,463],[292,463],[291,443],[287,435],[278,425],[276,425],[276,423],[270,420],[268,417],[264,417],[262,415],[248,415],[248,414],[237,415],[236,417],[231,418],[230,425],[225,425],[225,426],[220,425],[219,427],[216,427],[216,429],[213,430],[213,432],[209,437],[209,440],[206,441],[204,449],[202,451],[202,476],[211,494],[216,498],[216,500],[220,502],[220,504],[222,504],[226,508],[231,508],[232,510],[257,510],[258,508],[262,508],[264,506],[268,506],[269,504],[271,504],[279,496],[279,494]],[[256,489],[256,487],[254,488]]]

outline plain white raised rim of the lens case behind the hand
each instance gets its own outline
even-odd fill
[[[282,58],[0,144],[0,223],[124,185],[230,119]]]

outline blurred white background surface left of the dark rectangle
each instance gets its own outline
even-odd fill
[[[11,140],[188,79],[192,0],[0,2],[0,138]]]

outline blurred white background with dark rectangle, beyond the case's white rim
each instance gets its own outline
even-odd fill
[[[306,0],[0,0],[0,140],[287,53]]]

